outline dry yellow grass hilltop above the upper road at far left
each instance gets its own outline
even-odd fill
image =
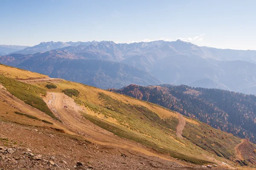
[[[47,77],[43,74],[34,73],[31,71],[22,70],[19,68],[13,68],[7,65],[0,64],[0,74],[4,75],[5,77],[12,78],[12,79],[28,79],[28,78],[38,78],[38,77]]]

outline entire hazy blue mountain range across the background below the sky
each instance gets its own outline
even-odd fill
[[[56,51],[49,52],[51,50]],[[20,57],[15,57],[17,54]],[[104,72],[112,69],[112,73],[115,72],[115,75],[119,75],[119,77],[110,78],[111,81],[115,79],[113,84],[109,82],[104,84],[91,83],[91,85],[96,85],[99,88],[120,88],[132,83],[138,85],[169,83],[256,94],[256,51],[253,50],[199,47],[181,40],[173,42],[159,40],[131,44],[117,44],[113,41],[41,42],[39,45],[2,56],[0,62],[48,75],[52,73],[47,70],[63,72],[63,70],[58,71],[60,68],[57,66],[58,63],[60,64],[60,60],[55,62],[55,65],[47,65],[46,62],[44,68],[41,68],[42,65],[37,65],[35,68],[34,65],[36,65],[37,61],[32,58],[36,58],[38,55],[45,56],[45,61],[50,61],[51,57],[52,61],[54,61],[58,56],[61,61],[73,60],[72,62],[75,62],[74,60],[79,59],[79,62],[87,62],[89,65],[92,60],[97,60],[93,61],[93,64],[97,63],[97,65],[99,63],[109,65],[110,62],[118,62],[119,64],[111,65],[110,68],[105,68],[102,72],[98,69],[98,72],[96,71],[98,76],[96,74],[83,74],[78,80],[74,78],[77,73],[74,70],[74,72],[70,72],[67,78],[80,82],[83,81],[81,79],[88,80],[83,81],[83,83],[91,82],[92,80],[89,79],[95,79],[94,77],[109,79],[111,76],[104,75]],[[61,57],[61,55],[65,57]],[[129,77],[129,75],[134,76],[134,72],[130,69],[124,73],[122,69],[119,69],[120,65],[133,68],[133,70],[136,69],[135,72],[147,74],[147,76],[135,76],[134,80],[129,79],[126,81],[126,77]],[[67,62],[63,62],[62,66],[69,70]],[[87,68],[87,66],[84,65],[83,69],[90,72],[91,68]],[[57,74],[52,75],[57,76]],[[64,75],[58,74],[58,77],[61,78],[62,76]],[[137,77],[139,80],[135,81]],[[154,79],[154,81],[149,79]]]

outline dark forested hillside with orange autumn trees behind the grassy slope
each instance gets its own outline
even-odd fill
[[[122,90],[111,91],[153,102],[256,142],[255,95],[186,85],[129,85]]]

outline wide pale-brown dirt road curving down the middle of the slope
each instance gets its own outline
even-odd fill
[[[169,161],[175,161],[175,159],[171,157],[167,158],[161,154],[152,153],[146,147],[143,147],[136,142],[128,141],[115,136],[113,133],[94,125],[87,119],[84,119],[81,116],[81,113],[76,110],[76,108],[79,106],[73,101],[73,99],[67,97],[66,95],[62,93],[48,93],[47,96],[47,105],[63,121],[63,124],[66,125],[70,131],[86,137],[86,139],[90,140],[91,142],[108,147],[112,146],[120,149],[144,153],[148,156],[157,156],[161,159]],[[68,108],[63,108],[66,103],[69,103]]]

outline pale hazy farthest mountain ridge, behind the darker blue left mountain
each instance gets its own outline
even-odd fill
[[[72,59],[97,59],[131,65],[147,71],[163,83],[256,94],[256,51],[199,47],[181,40],[131,44],[116,44],[113,41],[42,42],[41,45],[43,52],[64,51],[63,55],[73,55]],[[23,52],[32,50],[43,53],[40,49],[36,45]],[[6,58],[4,64],[14,63],[12,57],[9,60],[8,56],[1,58]],[[116,88],[110,84],[108,88],[113,87]]]

